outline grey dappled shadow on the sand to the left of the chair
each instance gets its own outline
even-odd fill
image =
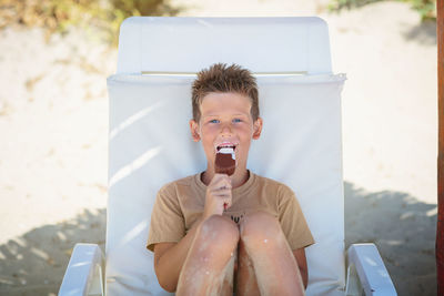
[[[57,295],[75,243],[104,249],[105,210],[44,225],[0,245],[0,295]]]

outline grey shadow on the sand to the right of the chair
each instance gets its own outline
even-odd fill
[[[436,295],[436,205],[344,185],[345,245],[376,244],[398,295]]]

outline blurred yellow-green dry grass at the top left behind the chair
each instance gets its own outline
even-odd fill
[[[175,16],[169,0],[0,0],[0,29],[41,27],[50,35],[78,27],[117,44],[121,22],[132,16]]]

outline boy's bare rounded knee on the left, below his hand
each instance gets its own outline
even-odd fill
[[[239,228],[230,218],[213,215],[202,222],[198,233],[199,244],[216,252],[232,252],[239,242]]]

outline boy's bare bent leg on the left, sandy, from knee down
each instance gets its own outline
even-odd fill
[[[230,218],[202,222],[179,277],[176,295],[232,295],[239,229]]]

